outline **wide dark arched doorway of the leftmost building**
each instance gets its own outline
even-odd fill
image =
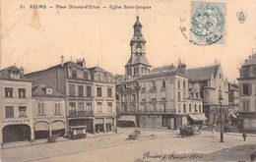
[[[8,125],[3,128],[3,142],[31,140],[29,125]]]

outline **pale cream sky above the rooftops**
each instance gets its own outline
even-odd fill
[[[0,69],[16,65],[28,74],[60,64],[63,55],[65,61],[85,58],[87,67],[98,65],[113,74],[124,74],[139,15],[147,40],[146,55],[153,67],[177,65],[178,59],[187,68],[217,61],[227,80],[234,81],[252,48],[256,52],[256,1],[219,3],[225,4],[224,44],[199,46],[185,37],[190,37],[191,27],[192,3],[188,0],[1,1]],[[30,5],[45,5],[46,9],[30,9]],[[100,9],[57,9],[56,5],[97,5]],[[109,5],[122,9],[113,10]],[[151,9],[124,9],[124,5]],[[246,13],[243,24],[237,20],[240,11]],[[185,36],[180,27],[186,27]]]

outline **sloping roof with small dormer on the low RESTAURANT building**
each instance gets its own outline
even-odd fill
[[[51,94],[46,94],[46,86],[44,84],[38,84],[32,86],[32,96],[33,97],[64,97],[65,95],[61,94],[60,92],[56,91],[54,88],[49,87],[52,89]]]

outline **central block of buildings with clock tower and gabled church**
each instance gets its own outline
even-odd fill
[[[223,120],[228,121],[228,82],[221,64],[186,69],[179,61],[177,67],[172,64],[152,68],[139,17],[133,27],[125,75],[115,77],[120,125],[177,129],[217,124],[221,121],[220,89],[224,97]]]

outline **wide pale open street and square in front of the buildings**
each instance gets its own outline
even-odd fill
[[[177,131],[142,129],[142,134],[136,140],[127,139],[133,129],[119,129],[118,132],[118,134],[102,134],[78,140],[4,148],[2,160],[250,161],[250,153],[256,150],[255,135],[248,135],[247,140],[243,141],[239,134],[227,134],[224,135],[224,143],[221,143],[220,134],[212,136],[210,132],[183,138]]]

